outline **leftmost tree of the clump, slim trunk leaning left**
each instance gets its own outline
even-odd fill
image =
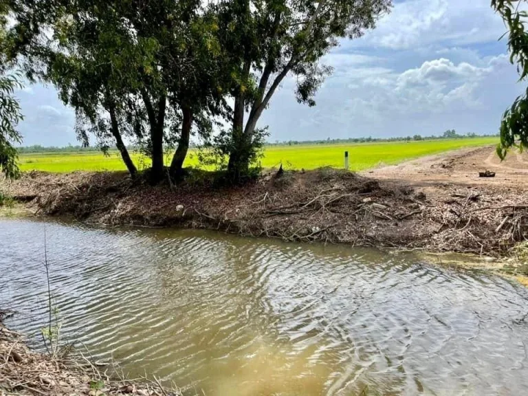
[[[112,12],[97,2],[44,0],[12,1],[16,23],[10,32],[10,57],[23,58],[30,80],[43,80],[58,89],[59,98],[76,111],[76,132],[84,144],[93,133],[106,151],[113,139],[134,177],[137,168],[123,137],[142,135],[142,109],[137,110],[136,67],[148,44],[127,45],[126,30]],[[50,32],[52,35],[50,35]],[[152,47],[152,44],[151,44]],[[130,67],[123,72],[124,66]],[[131,112],[134,112],[131,115]]]

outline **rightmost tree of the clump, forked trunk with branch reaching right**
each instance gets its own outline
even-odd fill
[[[288,74],[297,81],[296,98],[314,106],[314,94],[331,68],[320,58],[338,39],[373,28],[391,0],[232,0],[215,5],[219,41],[231,49],[233,99],[228,170],[246,173],[258,146],[256,124]],[[244,120],[248,111],[248,120]]]

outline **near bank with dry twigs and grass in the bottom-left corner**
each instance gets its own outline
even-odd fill
[[[17,356],[18,358],[14,358]],[[88,360],[58,359],[32,351],[23,336],[0,323],[0,396],[177,396],[158,380],[110,380]]]

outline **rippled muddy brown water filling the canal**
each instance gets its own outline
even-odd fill
[[[224,395],[522,395],[528,292],[416,256],[0,220],[0,307],[131,375]],[[7,283],[7,284],[6,284]]]

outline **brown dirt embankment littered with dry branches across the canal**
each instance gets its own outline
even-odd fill
[[[496,171],[481,179],[479,170]],[[249,186],[151,188],[124,173],[26,173],[1,186],[37,214],[89,223],[210,228],[287,241],[506,255],[528,233],[528,162],[473,148],[369,170],[321,168]]]

